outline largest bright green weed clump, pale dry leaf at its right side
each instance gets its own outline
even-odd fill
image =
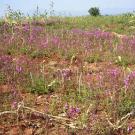
[[[28,89],[32,93],[48,94],[54,92],[58,85],[59,82],[57,80],[53,80],[52,82],[48,83],[48,81],[42,76],[35,77],[31,75],[31,83]]]

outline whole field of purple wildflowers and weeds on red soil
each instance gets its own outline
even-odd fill
[[[134,22],[1,19],[0,134],[134,135]]]

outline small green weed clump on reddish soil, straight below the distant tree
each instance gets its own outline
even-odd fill
[[[85,61],[88,63],[95,63],[95,62],[102,62],[103,60],[101,59],[101,56],[99,56],[99,54],[94,54],[94,55],[88,56],[85,59]]]

